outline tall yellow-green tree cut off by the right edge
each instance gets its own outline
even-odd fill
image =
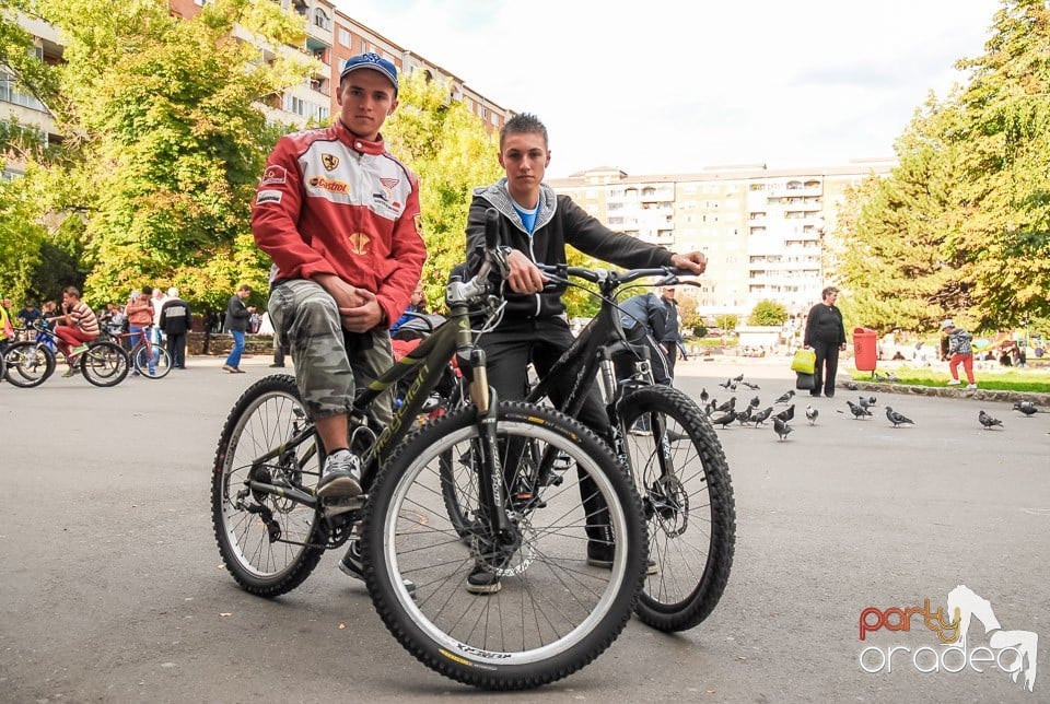
[[[959,103],[967,124],[966,178],[946,243],[973,285],[987,327],[1050,315],[1050,8],[1004,0],[985,52],[960,67],[971,80]]]

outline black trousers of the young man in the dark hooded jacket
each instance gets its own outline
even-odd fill
[[[482,336],[489,385],[495,389],[501,401],[525,398],[526,367],[532,362],[539,378],[546,378],[550,367],[572,344],[569,324],[560,318],[546,320],[510,320]],[[567,392],[572,388],[571,374],[552,379],[550,400],[561,407]],[[593,385],[576,419],[597,433],[606,443],[609,437],[609,416],[602,403],[597,386]],[[586,513],[587,537],[597,542],[611,541],[608,509],[605,501],[595,492],[594,482],[580,476],[580,495]]]

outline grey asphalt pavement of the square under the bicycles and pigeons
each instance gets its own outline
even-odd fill
[[[273,600],[225,573],[212,458],[235,399],[280,372],[269,361],[231,375],[190,357],[112,389],[0,384],[0,701],[1050,701],[1050,412],[864,391],[876,406],[856,420],[845,401],[860,394],[839,389],[795,397],[785,441],[769,424],[719,430],[737,543],[714,613],[675,635],[632,620],[580,672],[494,695],[402,650],[341,555]],[[738,388],[737,403],[765,408],[791,388],[786,365],[690,361],[677,386],[727,399],[718,383],[744,374],[760,388]],[[914,425],[892,427],[887,406]],[[980,410],[1003,426],[984,430]],[[973,614],[955,653],[923,611],[952,621],[949,594]],[[1004,671],[1024,633],[1039,640],[1031,692],[1028,660],[1016,682]]]

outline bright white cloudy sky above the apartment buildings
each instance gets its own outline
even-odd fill
[[[337,0],[348,15],[535,113],[548,176],[892,155],[983,54],[999,0]]]

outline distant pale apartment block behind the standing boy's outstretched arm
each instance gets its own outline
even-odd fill
[[[825,245],[847,189],[892,166],[891,160],[778,169],[742,164],[661,176],[599,167],[548,184],[614,230],[704,253],[701,285],[679,295],[696,297],[704,316],[743,318],[762,300],[792,315],[820,300],[829,273]]]

